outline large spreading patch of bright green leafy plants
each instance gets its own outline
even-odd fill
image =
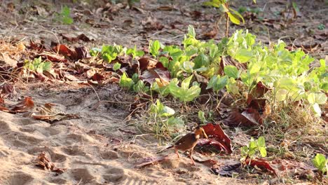
[[[255,39],[256,36],[247,30],[238,30],[219,43],[199,41],[196,39],[195,29],[190,25],[182,41],[182,48],[162,46],[159,41],[151,41],[149,43],[151,55],[168,68],[171,77],[165,84],[156,81],[151,85],[151,89],[162,97],[172,95],[180,101],[189,102],[200,95],[200,87],[192,78],[194,73],[209,79],[207,89],[212,88],[216,93],[224,88],[228,93],[233,94],[239,94],[245,89],[250,92],[261,81],[271,88],[267,94],[273,97],[272,102],[288,104],[301,100],[310,104],[315,116],[320,116],[322,112],[320,106],[327,102],[325,93],[328,93],[325,61],[320,60],[320,67],[313,67],[310,70],[309,64],[314,58],[306,55],[301,49],[289,51],[283,41],[278,41],[271,46],[263,46]],[[93,48],[90,53],[100,54],[108,62],[120,55],[136,57],[144,54],[136,47],[126,50],[116,45],[103,46],[101,50]],[[240,63],[246,63],[247,68],[244,70],[226,65],[221,69],[221,56],[230,56]],[[219,76],[219,71],[224,71],[224,76]],[[128,76],[123,77],[128,78]],[[129,85],[130,82],[125,82],[123,87],[148,92],[148,86],[138,81],[139,78],[132,80],[132,85]],[[134,85],[138,87],[133,88]]]

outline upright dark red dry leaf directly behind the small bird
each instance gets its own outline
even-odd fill
[[[203,129],[210,139],[201,139],[201,142],[199,142],[200,146],[211,145],[217,149],[223,149],[226,153],[232,153],[231,139],[229,139],[226,133],[224,133],[220,125],[208,123],[203,126]]]

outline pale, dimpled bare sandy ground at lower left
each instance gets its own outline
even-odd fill
[[[1,112],[0,184],[245,184],[237,179],[216,177],[200,163],[192,166],[186,156],[179,161],[172,150],[156,154],[155,138],[135,138],[118,130],[124,126],[126,111],[109,109],[108,104],[88,108],[97,102],[92,90],[55,89],[58,90],[57,85],[51,88],[29,85],[25,90],[18,88],[20,93],[13,100],[31,95],[33,111],[51,102],[62,112],[78,114],[80,118],[50,124],[36,121],[28,114]],[[118,93],[114,89],[103,88],[98,94],[101,99],[111,97]],[[137,132],[132,126],[124,129]],[[56,167],[67,171],[57,174],[36,167],[34,161],[42,151]],[[169,160],[163,163],[142,169],[135,167],[144,158],[166,154]]]

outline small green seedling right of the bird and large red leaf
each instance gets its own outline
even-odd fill
[[[259,139],[254,140],[251,138],[248,146],[242,146],[241,155],[243,158],[254,158],[254,156],[261,155],[262,158],[266,157],[266,141],[264,137],[259,137]]]

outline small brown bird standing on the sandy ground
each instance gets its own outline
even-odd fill
[[[205,130],[198,125],[198,127],[193,132],[190,132],[190,133],[184,135],[177,142],[175,142],[174,145],[169,146],[167,149],[171,149],[174,147],[175,153],[177,153],[177,156],[179,159],[180,159],[180,156],[179,156],[178,150],[179,151],[189,151],[189,156],[191,158],[191,161],[193,162],[193,165],[195,165],[195,162],[193,161],[193,157],[191,155],[193,153],[193,148],[196,146],[200,136],[203,136],[207,139]]]

